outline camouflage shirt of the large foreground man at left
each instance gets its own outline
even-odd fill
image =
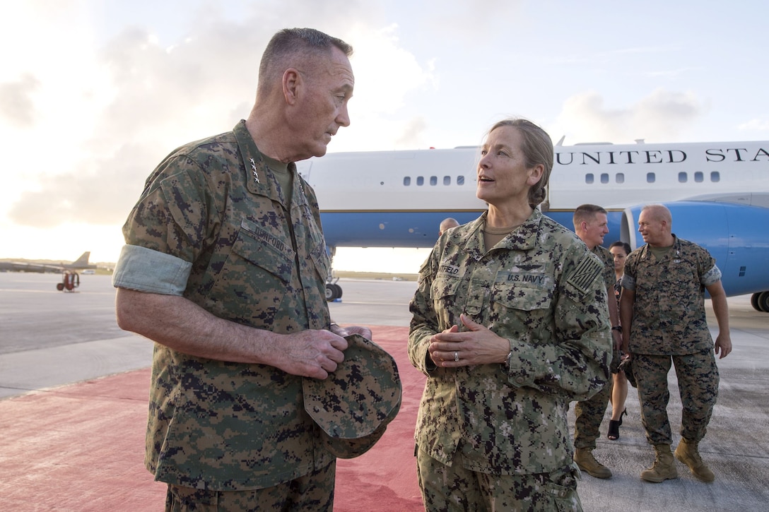
[[[245,121],[178,148],[148,178],[125,241],[190,261],[185,298],[220,318],[281,334],[328,328],[318,203],[295,166],[288,169],[291,195]],[[146,448],[156,480],[208,490],[271,487],[335,460],[305,412],[301,377],[161,344]]]

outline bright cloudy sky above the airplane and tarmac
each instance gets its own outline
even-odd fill
[[[510,115],[567,145],[769,139],[766,2],[0,7],[0,258],[90,250],[92,261],[115,261],[147,175],[173,148],[248,115],[261,52],[285,27],[318,28],[355,48],[351,126],[329,152],[477,145]],[[335,268],[371,270],[345,254],[354,253],[339,249]],[[411,250],[405,267],[425,254]]]

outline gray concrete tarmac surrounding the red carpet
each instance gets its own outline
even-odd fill
[[[151,342],[115,324],[110,279],[82,275],[80,288],[65,293],[56,291],[55,274],[0,273],[0,400],[148,367]],[[414,281],[342,279],[339,284],[341,301],[329,304],[337,323],[408,327]],[[654,453],[641,427],[638,397],[630,388],[620,439],[606,437],[607,411],[594,450],[614,476],[598,480],[583,475],[578,491],[584,510],[769,509],[769,314],[755,311],[749,296],[729,298],[729,307],[734,351],[718,360],[718,402],[700,445],[716,475],[714,483],[700,482],[680,463],[676,480],[650,484],[640,479]],[[708,319],[717,334],[712,314]],[[681,401],[674,372],[669,384],[668,414],[676,444]],[[573,424],[571,412],[570,417]],[[413,463],[410,455],[408,464]]]

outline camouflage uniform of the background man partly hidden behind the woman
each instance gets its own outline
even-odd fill
[[[604,277],[604,283],[606,284],[606,290],[608,294],[607,300],[614,300],[614,281],[616,280],[616,274],[614,274],[614,255],[611,254],[607,248],[601,245],[596,245],[592,249],[595,254],[604,264],[604,271],[602,275]],[[617,373],[617,367],[619,366],[620,354],[619,351],[614,349],[614,340],[611,344],[611,364],[609,369],[612,373]],[[578,401],[574,404],[574,447],[575,448],[590,448],[595,447],[595,440],[601,435],[601,421],[604,420],[604,413],[606,412],[606,406],[611,398],[612,380],[606,383],[606,385],[594,394],[588,400]]]

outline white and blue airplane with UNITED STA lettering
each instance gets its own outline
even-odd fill
[[[716,258],[727,295],[769,312],[769,141],[555,147],[542,211],[573,228],[579,204],[609,211],[605,244],[644,243],[644,204],[673,214],[673,232]],[[337,247],[431,248],[438,224],[477,218],[478,148],[329,153],[297,163],[315,188],[331,257]],[[341,296],[329,283],[327,298]]]

